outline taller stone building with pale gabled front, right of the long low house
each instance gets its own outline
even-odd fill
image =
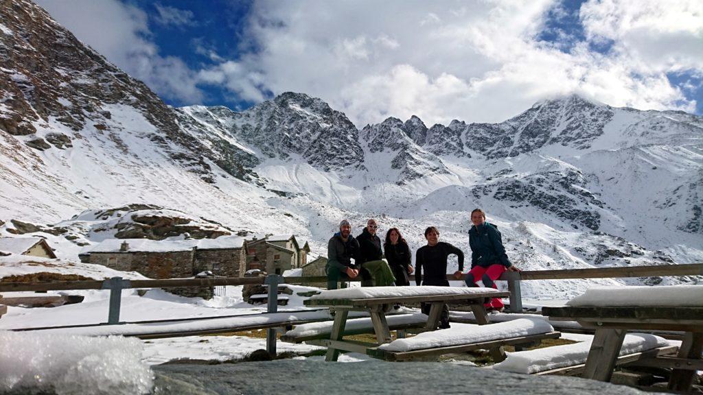
[[[295,235],[266,235],[247,240],[247,270],[259,269],[282,274],[307,263],[310,246],[300,243]]]

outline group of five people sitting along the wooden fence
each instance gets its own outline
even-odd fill
[[[439,230],[435,226],[425,229],[427,245],[415,252],[413,268],[410,247],[398,228],[390,228],[381,244],[376,235],[378,223],[375,219],[369,219],[356,238],[352,235],[349,221],[344,219],[340,222],[340,231],[328,242],[328,290],[336,289],[340,280],[359,276],[362,287],[410,285],[408,276],[413,271],[416,285],[449,287],[446,268],[447,258],[452,254],[458,258],[458,270],[453,273],[454,278],[460,280],[464,277],[469,287],[478,287],[477,282],[481,281],[484,287],[497,288],[494,281],[505,271],[517,271],[517,268],[512,266],[508,254],[505,253],[501,233],[495,225],[486,222],[486,214],[482,209],[471,212],[471,222],[471,268],[464,275],[464,253],[448,242],[439,241]],[[387,263],[382,260],[384,251]],[[503,310],[503,302],[499,298],[491,299],[484,306],[488,310]],[[429,309],[430,306],[423,306],[423,312],[429,313]],[[439,328],[449,328],[449,307],[446,305],[441,314]]]

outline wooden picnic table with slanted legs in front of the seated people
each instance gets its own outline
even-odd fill
[[[375,287],[392,288],[392,287]],[[423,288],[423,287],[418,287]],[[354,351],[366,354],[366,351],[371,347],[378,347],[380,344],[391,342],[391,332],[386,320],[386,312],[392,309],[395,304],[408,303],[427,303],[430,304],[430,316],[427,318],[425,331],[437,329],[441,318],[442,306],[449,302],[466,302],[470,304],[472,311],[476,316],[479,325],[490,323],[486,309],[483,303],[486,297],[508,297],[509,292],[498,292],[494,290],[486,290],[486,292],[468,291],[471,288],[456,288],[456,287],[431,287],[431,288],[446,288],[446,293],[428,292],[428,294],[402,295],[402,296],[383,296],[383,297],[359,297],[359,298],[330,298],[325,299],[325,294],[316,295],[315,297],[306,300],[304,304],[307,306],[324,306],[330,309],[330,313],[335,316],[332,333],[330,339],[322,342],[328,348],[325,356],[325,361],[337,361],[340,350]],[[457,293],[458,289],[467,290],[466,293]],[[451,290],[451,291],[449,291]],[[344,291],[344,290],[340,290]],[[436,291],[436,290],[435,290]],[[335,292],[335,291],[326,291]],[[421,291],[420,291],[421,292]],[[344,326],[347,323],[349,311],[368,311],[373,323],[373,330],[378,343],[355,342],[352,340],[342,339],[344,335]],[[491,356],[497,361],[505,358],[503,347],[494,347],[491,351]]]

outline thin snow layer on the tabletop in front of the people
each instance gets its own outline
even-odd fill
[[[418,297],[434,295],[465,295],[500,292],[484,287],[354,287],[328,290],[313,295],[310,299],[373,299],[387,297]]]

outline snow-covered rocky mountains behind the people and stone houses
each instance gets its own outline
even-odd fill
[[[526,269],[703,260],[703,117],[576,95],[429,129],[391,117],[360,131],[304,93],[174,109],[26,0],[0,7],[0,54],[0,235],[44,235],[61,257],[119,234],[73,216],[141,204],[225,233],[297,233],[316,254],[340,219],[360,231],[371,216],[413,249],[436,225],[468,252],[467,212],[482,207]]]

